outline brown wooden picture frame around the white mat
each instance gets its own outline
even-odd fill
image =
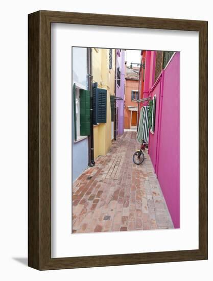
[[[38,270],[207,259],[207,21],[37,11],[29,14],[28,265]],[[51,24],[199,32],[199,249],[51,258]]]

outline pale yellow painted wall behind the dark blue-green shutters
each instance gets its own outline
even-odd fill
[[[110,95],[114,95],[115,50],[112,50],[112,68],[109,69],[109,49],[92,49],[93,83],[107,90],[107,122],[93,126],[94,159],[106,155],[111,147]]]

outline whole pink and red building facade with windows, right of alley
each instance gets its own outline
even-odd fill
[[[142,53],[142,60],[145,69],[140,72],[140,89],[143,90],[140,97],[151,99],[149,155],[174,227],[179,228],[180,53],[146,51]]]

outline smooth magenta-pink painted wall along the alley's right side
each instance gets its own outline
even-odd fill
[[[150,72],[152,75],[152,72]],[[156,95],[154,134],[149,154],[175,228],[180,227],[180,53],[176,53],[149,89]]]

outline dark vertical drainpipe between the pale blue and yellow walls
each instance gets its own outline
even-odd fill
[[[88,136],[88,144],[89,144],[89,166],[93,167],[94,162],[94,137],[93,137],[93,97],[92,97],[92,49],[87,48],[87,81],[88,81],[88,89],[90,91],[90,132],[91,134]]]

